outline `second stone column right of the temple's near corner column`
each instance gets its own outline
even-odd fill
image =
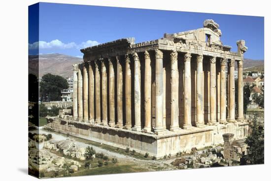
[[[184,55],[184,124],[183,129],[191,129],[191,54]]]

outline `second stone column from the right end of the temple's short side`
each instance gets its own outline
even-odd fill
[[[229,122],[235,122],[235,60],[230,59],[229,62]]]

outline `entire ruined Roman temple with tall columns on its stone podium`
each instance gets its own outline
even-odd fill
[[[205,20],[203,28],[161,39],[123,38],[81,49],[84,62],[73,65],[73,117],[49,126],[158,158],[223,143],[224,133],[245,138],[247,47],[237,40],[232,52],[220,36],[219,25]]]

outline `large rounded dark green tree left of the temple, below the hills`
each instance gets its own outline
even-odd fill
[[[40,82],[40,97],[42,101],[60,101],[61,91],[68,89],[68,81],[60,75],[47,73]]]

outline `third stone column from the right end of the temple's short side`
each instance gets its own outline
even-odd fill
[[[225,124],[226,120],[226,59],[220,60],[220,124]]]

